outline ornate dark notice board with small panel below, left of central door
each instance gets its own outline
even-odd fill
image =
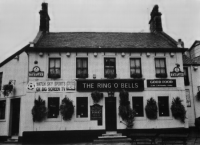
[[[102,125],[102,106],[94,104],[90,106],[90,120],[98,120],[98,125]]]

